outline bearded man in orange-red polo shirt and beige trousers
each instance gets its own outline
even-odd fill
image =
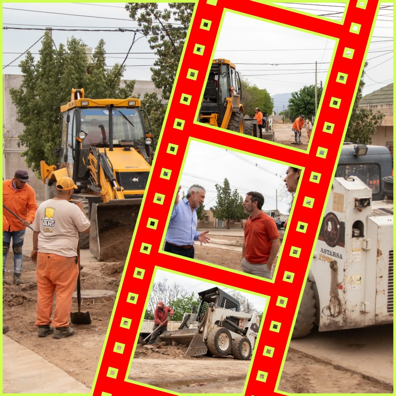
[[[272,265],[280,247],[278,227],[261,208],[264,197],[256,191],[246,194],[244,211],[250,213],[245,223],[245,242],[242,245],[242,271],[272,279]]]

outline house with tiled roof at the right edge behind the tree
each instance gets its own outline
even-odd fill
[[[385,114],[377,125],[372,144],[388,147],[393,157],[393,82],[362,97],[359,107]]]

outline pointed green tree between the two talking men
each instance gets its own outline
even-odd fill
[[[227,221],[227,229],[230,229],[230,220],[241,219],[241,206],[243,199],[235,189],[231,191],[230,182],[224,179],[224,185],[215,185],[217,190],[216,205],[213,206],[212,213],[217,219]],[[242,201],[241,201],[242,200]]]

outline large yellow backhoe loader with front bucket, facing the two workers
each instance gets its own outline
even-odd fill
[[[139,99],[88,99],[84,89],[72,89],[61,113],[59,164],[40,162],[41,178],[51,187],[46,198],[55,195],[59,178],[71,177],[78,187],[72,199],[83,201],[91,220],[81,247],[98,259],[125,260],[155,149],[147,113]]]

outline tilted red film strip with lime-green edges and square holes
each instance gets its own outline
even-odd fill
[[[237,2],[235,2],[237,3]],[[145,204],[121,289],[113,312],[111,328],[97,373],[94,396],[129,394],[169,394],[166,390],[148,388],[128,380],[131,354],[150,289],[154,267],[159,266],[205,278],[211,283],[227,283],[232,287],[248,284],[249,291],[268,295],[268,308],[263,318],[261,336],[255,345],[245,395],[276,393],[289,333],[293,324],[301,288],[322,219],[329,185],[342,143],[356,87],[360,80],[367,43],[375,20],[378,2],[356,0],[347,6],[341,23],[303,15],[253,1],[232,4],[224,0],[198,1],[192,28],[185,46],[183,61],[168,109],[156,162],[152,170]],[[268,15],[266,21],[290,27],[312,27],[311,32],[336,40],[336,52],[329,72],[326,91],[322,95],[320,114],[309,152],[262,141],[252,145],[251,139],[237,133],[209,128],[194,123],[200,106],[202,87],[211,64],[213,46],[225,11],[246,16]],[[209,17],[210,16],[210,17]],[[285,25],[286,26],[286,25]],[[216,145],[287,161],[303,168],[301,185],[295,199],[293,216],[276,277],[272,282],[247,278],[221,268],[161,252],[169,210],[173,204],[177,182],[189,139],[200,139]]]

